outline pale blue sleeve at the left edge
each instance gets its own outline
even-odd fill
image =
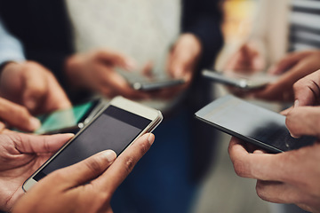
[[[0,19],[0,65],[6,61],[25,60],[23,48],[20,41],[4,28],[4,23]]]

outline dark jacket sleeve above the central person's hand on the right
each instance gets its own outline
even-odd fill
[[[220,1],[184,0],[182,4],[182,33],[192,33],[200,39],[203,55],[199,66],[212,66],[223,44],[220,30],[222,20]]]

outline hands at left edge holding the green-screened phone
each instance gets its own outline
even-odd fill
[[[0,79],[0,130],[5,123],[33,131],[40,122],[31,114],[71,107],[66,93],[52,73],[32,61],[8,63]],[[4,123],[5,122],[5,123]]]

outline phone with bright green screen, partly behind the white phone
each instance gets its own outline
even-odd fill
[[[34,133],[76,133],[99,112],[101,106],[102,100],[94,99],[68,109],[57,110],[51,114],[39,115],[37,118],[41,122],[41,127]]]

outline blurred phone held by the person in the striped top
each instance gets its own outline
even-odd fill
[[[257,90],[267,86],[268,83],[276,81],[276,76],[271,75],[241,75],[234,72],[220,73],[204,69],[201,73],[204,77],[216,83],[223,83],[244,90]]]

